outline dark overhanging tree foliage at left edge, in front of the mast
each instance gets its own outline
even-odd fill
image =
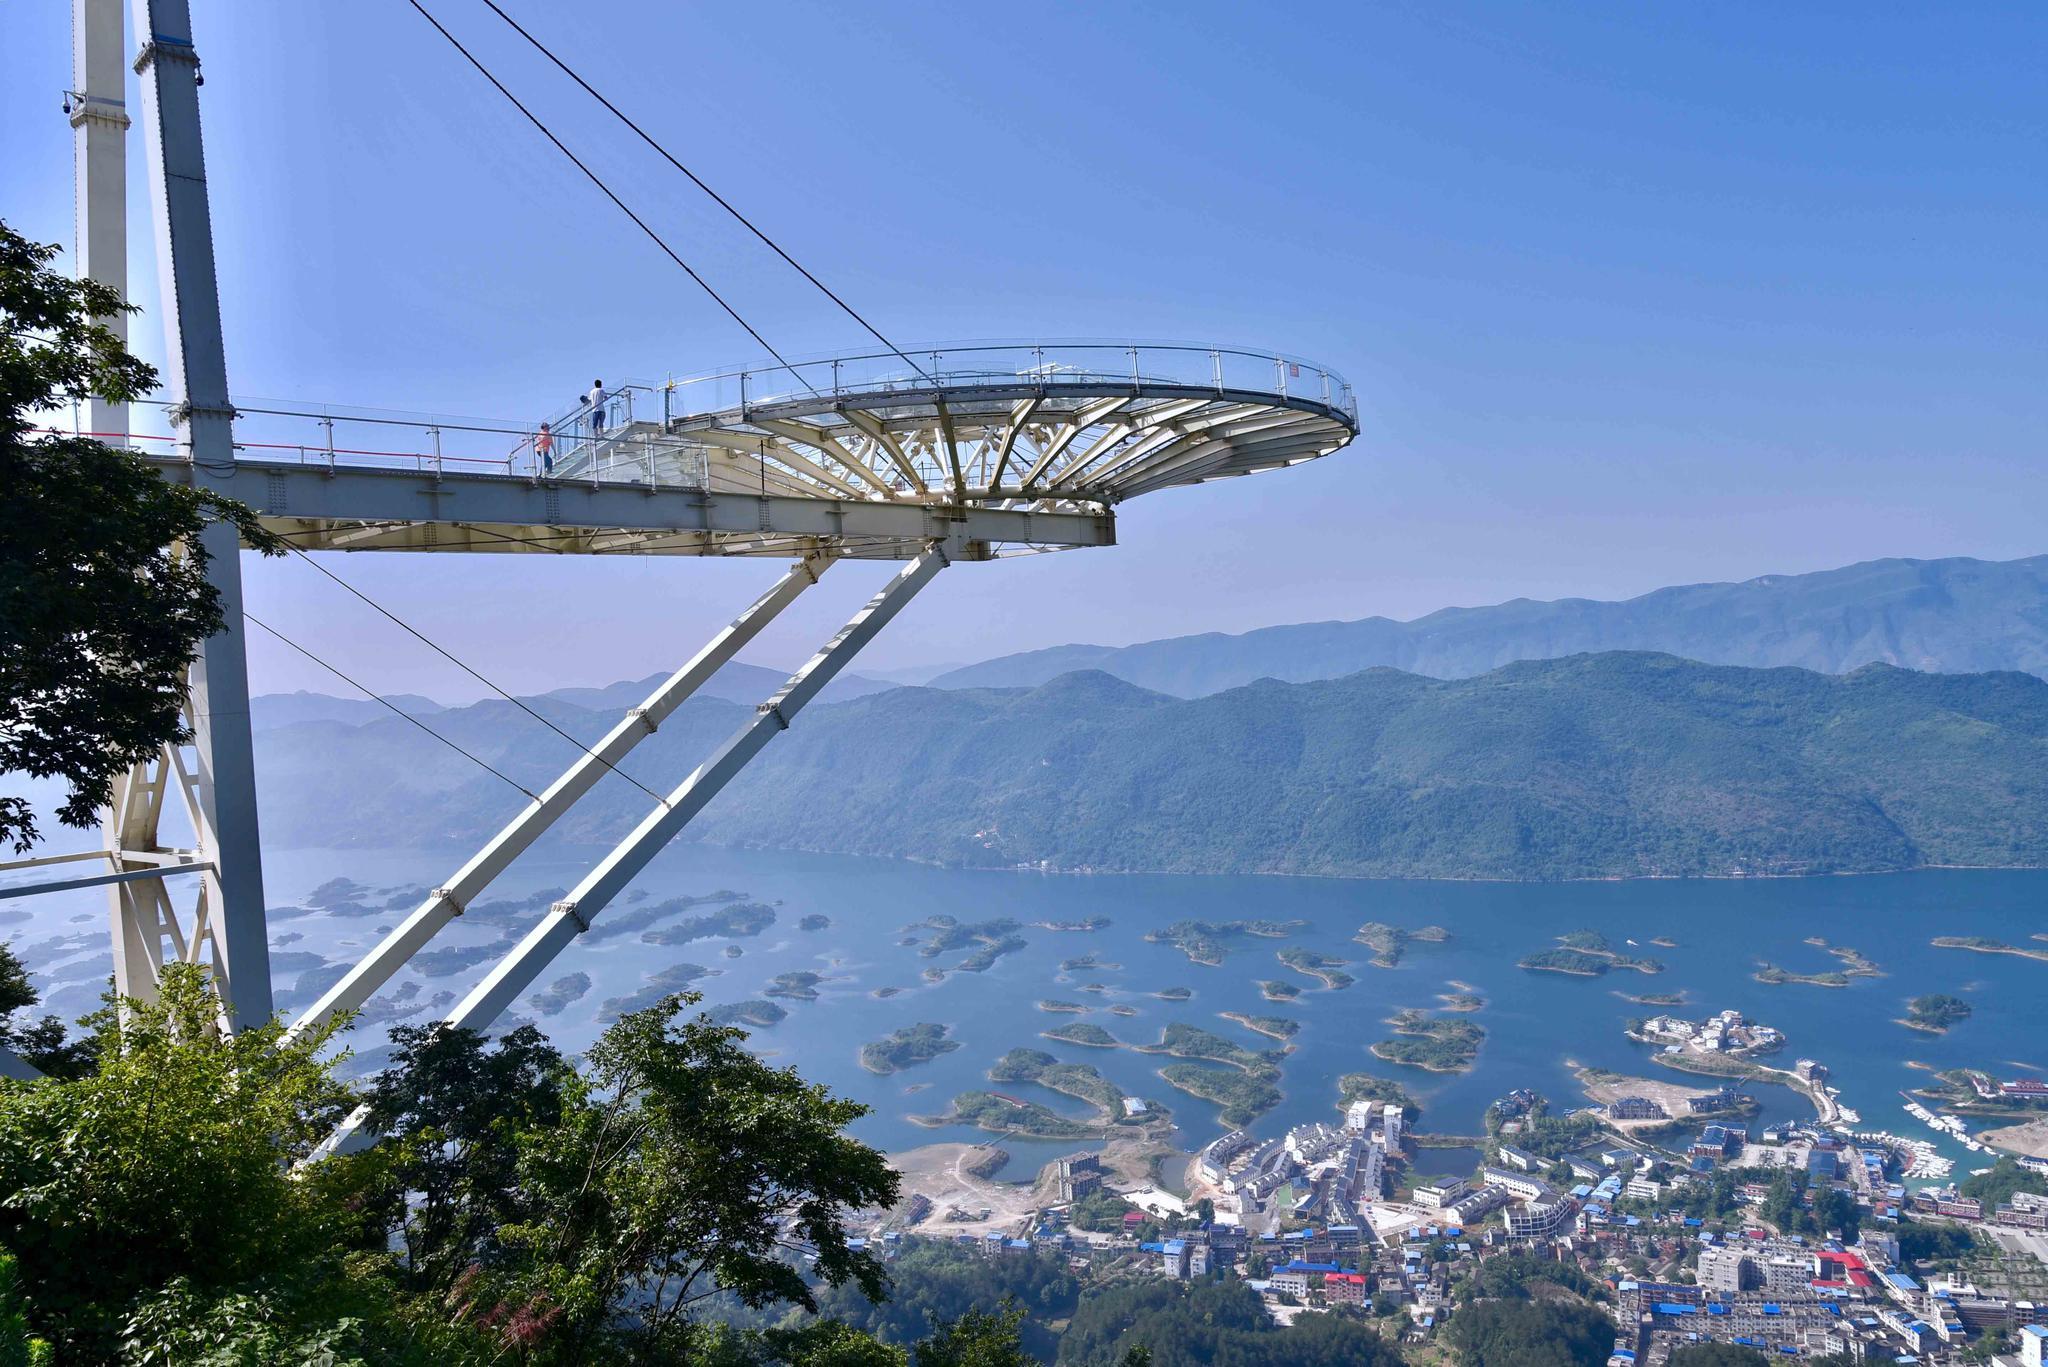
[[[55,246],[0,223],[0,773],[57,777],[66,826],[92,826],[113,777],[188,738],[184,668],[227,623],[207,582],[236,533],[281,553],[244,504],[172,484],[131,451],[35,432],[41,412],[135,400],[156,371],[100,318],[117,291],[49,268]],[[0,840],[37,840],[23,797],[0,797]]]

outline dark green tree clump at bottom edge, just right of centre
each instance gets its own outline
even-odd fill
[[[1397,1367],[1401,1357],[1366,1320],[1300,1316],[1282,1330],[1239,1281],[1112,1283],[1081,1299],[1059,1338],[1061,1367],[1128,1363],[1145,1349],[1153,1367]]]

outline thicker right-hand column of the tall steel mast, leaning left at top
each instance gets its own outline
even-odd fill
[[[164,379],[172,416],[184,426],[193,478],[217,484],[236,467],[233,408],[213,266],[207,156],[199,129],[199,53],[186,0],[133,0],[141,51],[150,191],[156,209],[158,279],[164,301]],[[236,529],[201,535],[207,580],[227,627],[201,644],[190,672],[199,754],[195,789],[203,875],[199,922],[225,1025],[270,1019],[270,945],[264,930],[262,842],[256,824],[256,758],[250,744],[248,654],[242,625],[242,547]],[[158,885],[160,887],[160,885]],[[197,935],[199,926],[195,926]],[[123,951],[117,935],[115,953]],[[195,943],[197,953],[197,943]]]

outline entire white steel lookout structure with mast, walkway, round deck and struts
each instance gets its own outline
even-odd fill
[[[74,0],[74,6],[80,72],[100,72],[94,80],[104,82],[102,47],[121,41],[121,4]],[[1327,371],[1311,367],[1321,379],[1315,398],[1288,393],[1286,363],[1270,355],[1257,361],[1274,367],[1276,383],[1260,387],[1227,381],[1223,353],[1208,353],[1214,381],[1202,383],[1186,373],[1147,375],[1141,348],[1128,346],[1118,348],[1130,357],[1122,373],[1044,365],[1006,371],[985,359],[948,371],[936,365],[934,353],[930,369],[911,367],[915,379],[893,373],[848,385],[840,363],[831,361],[821,363],[831,367],[829,385],[791,371],[784,379],[797,379],[793,389],[801,391],[758,400],[748,400],[748,375],[739,375],[737,406],[664,414],[659,422],[627,420],[602,439],[582,441],[547,471],[518,473],[508,463],[506,473],[444,473],[438,461],[434,469],[389,469],[336,461],[332,449],[326,463],[238,459],[188,0],[133,0],[133,23],[141,37],[135,68],[143,74],[162,258],[166,379],[182,428],[182,449],[154,457],[164,478],[248,502],[270,531],[303,549],[772,555],[795,562],[307,1008],[293,1023],[293,1035],[365,1006],[838,560],[905,564],[539,918],[457,1004],[451,1025],[489,1027],[948,564],[1112,545],[1114,508],[1126,498],[1315,459],[1343,447],[1358,430],[1350,389],[1341,379],[1333,389]],[[88,45],[94,51],[88,53]],[[94,205],[96,262],[113,252],[102,232],[111,221],[104,197],[121,180],[106,172],[121,154],[109,129],[117,123],[98,109],[90,137],[82,131],[78,139],[92,172],[80,174],[80,195]],[[1153,355],[1161,350],[1194,348],[1151,348]],[[106,885],[117,988],[147,998],[166,963],[203,963],[221,988],[223,1025],[236,1029],[270,1017],[270,976],[240,557],[231,529],[215,527],[207,537],[209,578],[231,627],[207,641],[193,664],[186,703],[193,742],[166,748],[119,777],[100,855],[10,865],[102,859],[102,871],[59,875],[0,896]],[[166,810],[182,812],[190,824],[190,848],[162,842]],[[193,875],[197,896],[188,912],[174,906],[170,875]]]

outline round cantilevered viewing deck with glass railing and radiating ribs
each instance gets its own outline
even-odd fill
[[[625,385],[602,434],[551,422],[567,475],[664,447],[678,482],[834,500],[1038,510],[1313,461],[1358,434],[1329,367],[1178,342],[987,342]],[[666,441],[664,441],[666,439]],[[659,478],[659,475],[655,475]]]

